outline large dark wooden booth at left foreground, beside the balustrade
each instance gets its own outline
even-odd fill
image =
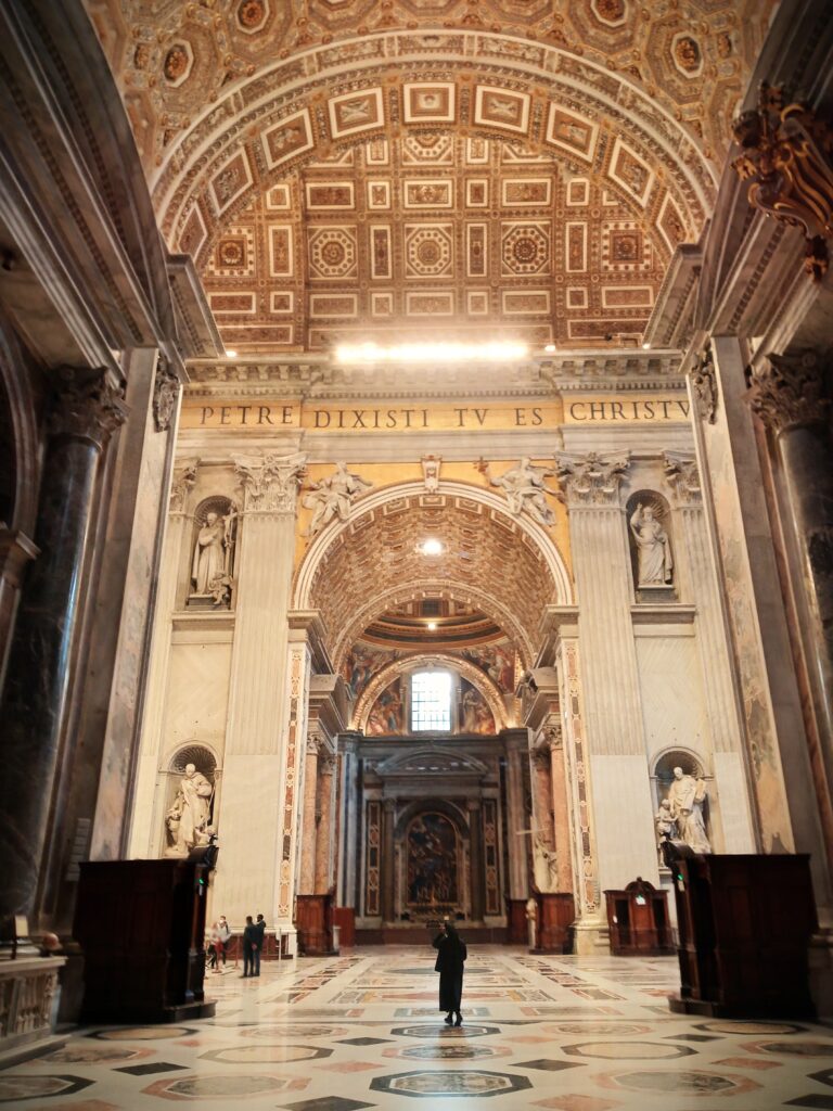
[[[209,1018],[203,992],[210,868],[189,860],[81,864],[73,935],[84,957],[82,1021]]]

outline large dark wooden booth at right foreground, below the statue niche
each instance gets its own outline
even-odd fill
[[[668,862],[681,981],[671,1010],[814,1018],[809,948],[817,920],[810,857],[692,855]]]

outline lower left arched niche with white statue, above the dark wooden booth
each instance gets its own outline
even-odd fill
[[[193,769],[193,771],[190,771]],[[212,750],[199,741],[177,749],[160,774],[163,799],[161,855],[185,857],[217,829],[221,773]]]

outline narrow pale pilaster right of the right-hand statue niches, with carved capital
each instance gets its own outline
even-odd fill
[[[682,541],[676,561],[681,594],[696,607],[696,644],[720,799],[722,839],[716,840],[714,848],[723,852],[755,852],[743,727],[732,681],[726,619],[703,509],[700,471],[693,456],[666,451],[663,460],[676,534]],[[714,818],[712,812],[713,825]]]

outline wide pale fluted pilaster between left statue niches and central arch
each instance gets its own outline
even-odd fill
[[[213,905],[237,928],[255,907],[278,922],[283,787],[297,743],[288,689],[289,601],[303,456],[237,460],[243,489]],[[290,737],[292,734],[292,737]],[[302,737],[303,734],[301,734]]]

